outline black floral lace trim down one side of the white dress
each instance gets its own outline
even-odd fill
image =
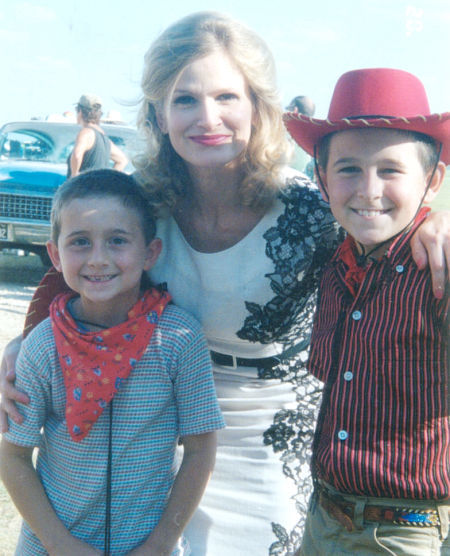
[[[279,198],[284,212],[263,236],[274,265],[266,275],[274,297],[264,306],[246,302],[249,316],[237,335],[250,342],[282,343],[287,350],[309,338],[319,280],[342,238],[328,205],[308,180],[292,179]],[[291,382],[297,398],[297,408],[279,411],[263,435],[264,444],[279,454],[283,473],[297,486],[299,514],[293,531],[272,523],[276,540],[268,549],[270,556],[290,556],[298,549],[312,491],[309,460],[321,383],[306,371],[306,358],[303,350],[272,369],[258,369],[261,379]]]

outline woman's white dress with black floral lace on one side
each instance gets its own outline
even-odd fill
[[[271,369],[214,365],[227,427],[186,530],[192,554],[293,554],[311,492],[308,455],[320,400],[305,347],[318,278],[336,247],[334,221],[317,189],[296,177],[229,249],[195,251],[171,217],[159,222],[158,236],[163,251],[151,278],[201,322],[211,350],[263,358],[303,347]]]

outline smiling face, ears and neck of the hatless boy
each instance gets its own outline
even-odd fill
[[[139,297],[142,272],[159,254],[158,242],[146,244],[136,211],[114,197],[70,201],[49,254],[80,294],[76,316],[109,327],[125,320]]]

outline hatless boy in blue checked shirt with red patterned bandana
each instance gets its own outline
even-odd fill
[[[142,287],[160,250],[131,176],[92,171],[57,191],[48,252],[73,292],[23,342],[17,379],[31,402],[1,444],[25,520],[20,555],[189,554],[178,539],[224,423],[199,325]]]

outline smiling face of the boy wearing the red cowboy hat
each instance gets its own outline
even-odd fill
[[[436,175],[425,195],[430,176],[416,142],[395,130],[354,129],[331,138],[322,177],[334,216],[367,252],[412,223],[422,200],[439,189],[440,170]]]

